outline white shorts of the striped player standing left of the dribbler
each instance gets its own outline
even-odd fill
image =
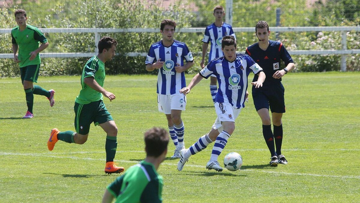
[[[171,110],[185,111],[186,96],[181,93],[172,95],[158,94],[158,109],[159,112],[171,114]]]

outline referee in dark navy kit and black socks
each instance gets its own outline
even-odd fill
[[[262,88],[252,88],[252,98],[257,113],[262,121],[262,134],[271,153],[270,166],[276,167],[278,164],[287,164],[285,156],[281,153],[283,141],[283,125],[281,118],[285,113],[284,86],[281,78],[295,68],[294,61],[286,51],[283,43],[269,40],[269,25],[265,21],[259,21],[255,27],[255,34],[258,42],[246,49],[246,54],[260,65],[266,75]],[[281,61],[285,63],[282,68]],[[258,75],[255,74],[253,81],[257,81]],[[271,120],[273,118],[274,133],[271,131]],[[275,144],[274,144],[275,139]],[[275,151],[276,146],[276,151]]]

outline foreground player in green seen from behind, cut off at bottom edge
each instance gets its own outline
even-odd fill
[[[103,203],[162,202],[163,179],[156,172],[167,153],[169,136],[163,128],[154,127],[144,134],[146,158],[133,165],[107,186]]]

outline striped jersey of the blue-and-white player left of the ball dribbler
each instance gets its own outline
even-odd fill
[[[185,43],[174,40],[170,47],[165,47],[162,41],[150,46],[145,64],[152,64],[158,59],[165,61],[163,67],[159,69],[157,81],[157,93],[172,95],[179,93],[181,88],[186,87],[185,74],[175,71],[176,63],[184,66],[186,61],[193,61],[193,55]]]

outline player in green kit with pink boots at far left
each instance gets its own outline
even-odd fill
[[[21,82],[24,87],[27,112],[23,118],[33,118],[32,107],[34,103],[34,94],[44,95],[50,101],[50,107],[53,107],[54,90],[45,90],[39,85],[33,85],[39,77],[40,56],[39,52],[49,46],[48,40],[39,29],[26,24],[26,12],[23,9],[15,10],[15,21],[18,26],[11,30],[13,43],[14,61],[20,66]],[[39,42],[41,43],[39,47]],[[19,55],[16,55],[19,50]]]

